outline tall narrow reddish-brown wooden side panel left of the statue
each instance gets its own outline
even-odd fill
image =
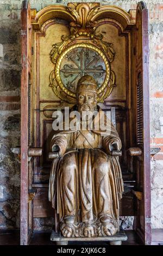
[[[28,85],[31,72],[31,25],[30,5],[28,1],[22,2],[21,11],[21,245],[27,245],[31,229],[28,218]]]

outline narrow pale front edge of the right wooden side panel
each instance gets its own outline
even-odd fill
[[[151,245],[151,160],[150,160],[150,118],[149,118],[149,39],[148,9],[142,10],[142,48],[143,48],[143,139],[144,139],[144,200],[145,200],[145,243]],[[149,221],[146,221],[146,220]]]

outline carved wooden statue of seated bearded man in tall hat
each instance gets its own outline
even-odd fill
[[[65,237],[97,237],[117,233],[119,200],[123,180],[118,156],[121,140],[115,127],[97,106],[97,84],[83,76],[77,84],[76,109],[82,114],[95,112],[92,130],[57,131],[52,138],[53,160],[49,180],[49,200],[57,210],[60,231]],[[104,122],[98,129],[95,123]],[[89,124],[89,115],[86,127]],[[104,127],[102,127],[104,126]]]

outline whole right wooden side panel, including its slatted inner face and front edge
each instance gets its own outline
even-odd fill
[[[149,46],[148,9],[139,2],[136,10],[135,26],[135,78],[136,78],[136,144],[142,149],[137,157],[137,191],[142,192],[142,200],[137,199],[137,233],[143,243],[151,243],[151,169],[149,135]]]

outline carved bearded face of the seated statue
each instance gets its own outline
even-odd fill
[[[78,111],[82,114],[82,111],[95,111],[97,106],[97,95],[90,90],[81,90],[78,95]]]

